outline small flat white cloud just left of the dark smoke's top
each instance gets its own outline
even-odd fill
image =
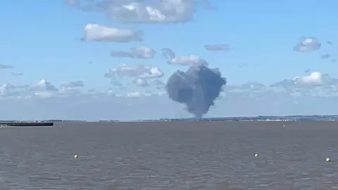
[[[110,78],[132,77],[140,79],[154,79],[163,77],[163,71],[151,65],[120,65],[117,68],[108,70],[104,75]]]

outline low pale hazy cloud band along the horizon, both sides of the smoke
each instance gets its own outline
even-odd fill
[[[142,75],[142,72],[133,73],[123,75],[132,79]],[[150,86],[137,91],[108,89],[102,92],[81,91],[83,85],[80,80],[61,84],[58,89],[47,80],[29,85],[3,84],[0,86],[0,114],[6,119],[87,120],[191,116],[183,105],[170,101],[164,89],[150,89],[151,85],[161,80],[146,81],[151,81]],[[78,91],[70,93],[70,89]],[[258,82],[227,84],[206,117],[333,114],[337,112],[337,98],[338,79],[321,72],[311,72],[270,85]]]

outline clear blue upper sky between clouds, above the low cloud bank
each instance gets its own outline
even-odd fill
[[[311,68],[337,75],[336,65],[318,58],[325,50],[296,53],[301,36],[337,41],[335,1],[215,1],[216,11],[201,8],[185,24],[127,24],[109,20],[101,13],[82,12],[63,1],[1,1],[3,18],[1,63],[14,65],[23,77],[1,75],[1,82],[25,83],[46,78],[54,84],[84,80],[87,86],[108,84],[102,77],[108,68],[124,63],[160,65],[166,75],[180,67],[166,65],[161,54],[154,60],[111,58],[109,51],[125,50],[140,43],[83,43],[84,25],[98,23],[144,31],[144,42],[158,52],[170,47],[177,54],[194,53],[219,67],[230,83],[271,83],[301,75]],[[5,27],[6,26],[6,27]],[[205,44],[225,43],[228,52],[205,51]],[[87,64],[93,61],[94,64]],[[246,64],[244,68],[237,65]],[[254,67],[253,65],[257,65]]]

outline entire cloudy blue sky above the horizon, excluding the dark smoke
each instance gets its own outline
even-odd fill
[[[334,113],[336,1],[34,2],[0,2],[3,119],[189,117],[155,83],[201,61],[228,81],[207,116]]]

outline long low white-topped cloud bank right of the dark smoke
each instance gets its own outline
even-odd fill
[[[327,97],[336,97],[337,99],[338,79],[321,72],[309,72],[303,76],[285,79],[268,85],[258,82],[246,82],[240,85],[230,84],[223,90],[222,96],[225,99],[237,97],[238,99],[253,99],[253,101],[264,101],[264,103],[271,104],[278,104],[278,99],[284,99],[289,103],[299,101],[299,99]]]

